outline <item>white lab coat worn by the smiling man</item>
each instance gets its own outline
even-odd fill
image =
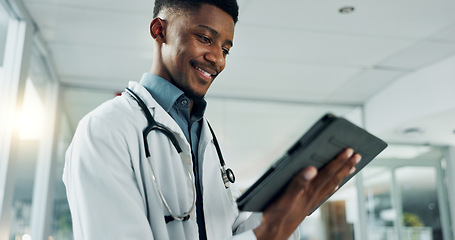
[[[130,82],[129,88],[145,102],[155,121],[167,126],[176,136],[183,159],[193,169],[191,147],[177,123],[140,84]],[[169,212],[151,180],[150,165],[176,214],[190,209],[192,183],[182,158],[169,139],[158,131],[148,134],[151,159],[147,160],[142,138],[146,125],[141,108],[126,93],[102,104],[80,121],[66,153],[63,173],[75,239],[198,239],[195,213],[188,221],[174,220],[167,224],[164,221],[164,215]],[[259,224],[260,214],[249,218],[247,213],[239,214],[232,189],[226,190],[221,179],[220,162],[205,119],[199,162],[203,169],[208,239],[256,239],[251,229]],[[298,234],[294,238],[298,239]]]

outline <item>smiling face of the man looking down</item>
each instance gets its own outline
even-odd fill
[[[223,10],[203,4],[199,11],[165,19],[158,75],[190,97],[203,97],[223,71],[234,38],[234,20]]]

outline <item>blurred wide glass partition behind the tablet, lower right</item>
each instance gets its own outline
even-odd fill
[[[442,151],[390,146],[305,219],[301,239],[452,239]]]

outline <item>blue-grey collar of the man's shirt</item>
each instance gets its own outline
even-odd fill
[[[166,112],[169,112],[171,108],[183,98],[187,98],[182,90],[174,86],[166,79],[151,73],[144,73],[140,84],[147,89],[152,97],[163,107]],[[189,99],[188,99],[189,100]],[[207,102],[204,99],[193,102],[194,117],[202,118],[205,113]]]

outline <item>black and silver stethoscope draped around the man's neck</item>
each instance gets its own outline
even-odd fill
[[[185,166],[187,173],[188,173],[188,178],[190,179],[192,186],[193,186],[193,203],[191,205],[191,208],[187,212],[185,212],[181,215],[177,215],[171,210],[168,202],[164,198],[164,195],[163,195],[163,192],[161,191],[160,186],[158,185],[152,165],[150,165],[150,170],[151,170],[151,175],[152,175],[152,181],[155,185],[155,188],[157,189],[158,195],[160,196],[161,201],[163,202],[164,206],[167,208],[167,210],[169,211],[169,214],[170,214],[170,215],[164,216],[166,223],[171,222],[173,220],[186,221],[190,218],[190,214],[193,212],[194,208],[196,207],[196,196],[197,196],[196,184],[194,182],[192,170],[190,168],[191,160],[185,160],[183,158],[182,148],[180,147],[180,144],[178,143],[177,138],[174,136],[174,134],[172,134],[172,132],[168,128],[166,128],[165,126],[163,126],[155,121],[155,119],[153,118],[149,109],[145,105],[144,101],[142,101],[142,99],[129,88],[126,88],[126,92],[128,92],[131,95],[131,97],[133,97],[134,100],[136,100],[136,102],[141,107],[142,111],[144,111],[145,117],[147,118],[148,124],[147,124],[147,127],[144,129],[144,131],[142,131],[142,137],[144,139],[145,156],[147,157],[147,160],[149,161],[149,163],[151,163],[151,160],[150,160],[150,152],[149,152],[149,147],[148,147],[147,135],[153,130],[160,131],[164,135],[166,135],[169,138],[169,140],[172,142],[172,145],[174,145],[174,147],[177,150],[177,152],[179,153],[180,157],[182,158],[182,161],[184,163],[183,165]],[[221,149],[220,149],[220,145],[218,144],[218,140],[217,140],[215,133],[213,132],[213,129],[210,126],[210,124],[208,122],[207,122],[207,124],[209,126],[210,132],[212,133],[213,143],[215,145],[216,152],[218,154],[218,158],[220,160],[221,178],[223,179],[224,186],[227,189],[227,188],[229,188],[230,183],[235,182],[235,175],[234,175],[234,172],[230,168],[226,169],[226,167],[225,167],[226,163],[224,162],[223,155],[221,154]],[[141,176],[144,176],[142,168],[141,168]],[[146,203],[146,207],[147,207],[147,219],[148,219],[149,204],[148,204],[145,185],[143,184],[142,186],[143,186],[143,191],[144,191],[144,196],[145,196],[145,203]]]

